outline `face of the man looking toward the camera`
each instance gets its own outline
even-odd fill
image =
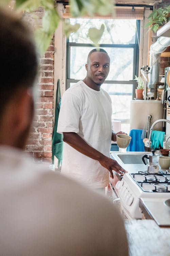
[[[101,85],[110,68],[110,58],[106,53],[94,52],[89,56],[86,64],[87,78],[97,85]]]

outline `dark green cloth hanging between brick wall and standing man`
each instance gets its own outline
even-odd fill
[[[54,164],[54,156],[58,159],[58,168],[60,163],[62,163],[63,158],[63,135],[57,132],[58,125],[58,115],[61,106],[61,93],[60,93],[60,79],[57,82],[57,92],[56,92],[56,104],[55,104],[55,122],[52,136],[52,163]]]

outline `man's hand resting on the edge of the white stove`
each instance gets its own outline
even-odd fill
[[[121,175],[124,175],[125,173],[127,173],[127,171],[123,169],[116,160],[109,158],[107,156],[102,157],[102,159],[99,162],[104,168],[106,168],[110,172],[112,179],[113,179],[113,171]]]

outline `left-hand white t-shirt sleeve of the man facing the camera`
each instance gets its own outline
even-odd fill
[[[79,97],[72,93],[65,93],[61,100],[61,108],[58,117],[57,132],[79,132],[80,120]]]

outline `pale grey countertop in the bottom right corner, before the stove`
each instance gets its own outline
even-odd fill
[[[170,228],[149,219],[126,221],[125,228],[129,256],[170,256]]]

